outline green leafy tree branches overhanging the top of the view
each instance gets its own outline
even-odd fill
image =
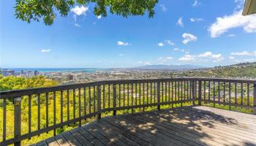
[[[109,9],[111,14],[125,18],[130,15],[144,15],[145,12],[152,18],[157,2],[158,0],[16,0],[15,16],[28,23],[42,18],[45,25],[51,25],[58,12],[65,17],[76,4],[93,3],[94,14],[97,16],[106,17]]]

